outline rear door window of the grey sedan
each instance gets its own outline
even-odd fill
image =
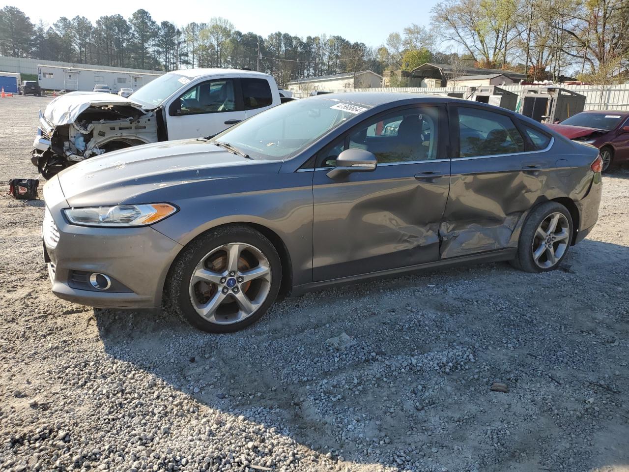
[[[524,150],[524,138],[508,116],[459,107],[459,147],[459,157],[513,154]]]

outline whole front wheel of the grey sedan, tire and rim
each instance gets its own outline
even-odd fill
[[[211,333],[234,332],[259,320],[277,298],[282,269],[261,233],[229,226],[189,244],[170,271],[170,310]]]

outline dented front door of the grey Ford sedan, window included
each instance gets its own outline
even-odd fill
[[[445,107],[367,118],[324,148],[313,178],[314,281],[415,266],[439,258],[450,179]],[[376,170],[327,173],[344,149],[376,155]]]

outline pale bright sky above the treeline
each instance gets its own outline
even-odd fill
[[[153,20],[168,20],[177,26],[191,21],[207,22],[213,16],[222,16],[233,23],[236,30],[243,33],[253,31],[264,37],[276,31],[298,37],[340,35],[350,42],[362,42],[377,47],[384,43],[392,31],[402,32],[411,23],[427,26],[430,22],[430,9],[438,0],[415,0],[396,2],[395,6],[386,0],[318,0],[306,3],[286,0],[229,0],[203,1],[187,0],[182,3],[166,1],[108,2],[98,0],[28,0],[0,3],[16,6],[33,23],[43,20],[52,25],[60,16],[73,18],[86,16],[92,23],[99,16],[120,13],[129,18],[136,10],[143,8]]]

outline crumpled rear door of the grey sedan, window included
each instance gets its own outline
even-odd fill
[[[508,113],[467,104],[450,107],[455,150],[440,229],[443,259],[513,245],[511,235],[542,195],[552,166]]]

